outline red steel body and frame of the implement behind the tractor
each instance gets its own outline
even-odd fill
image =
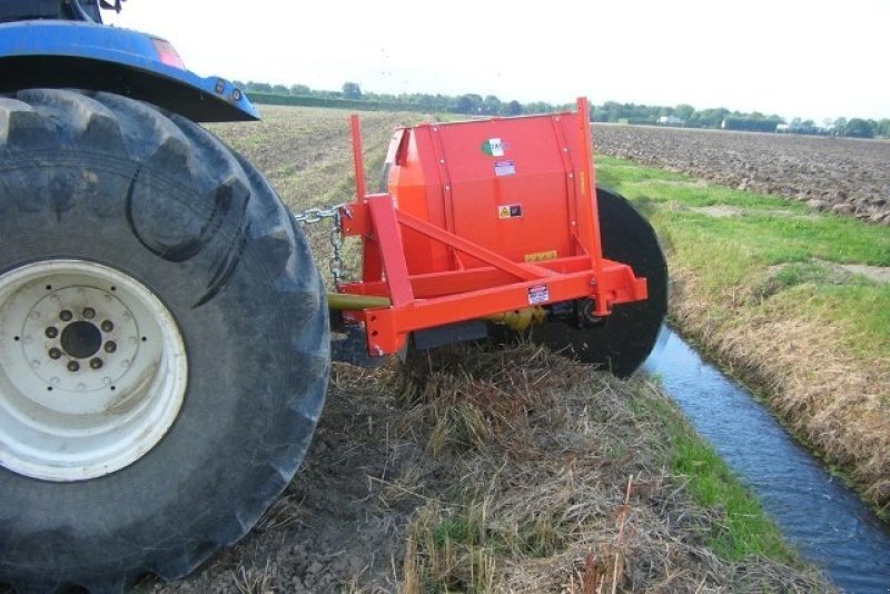
[[[389,297],[365,323],[372,354],[413,330],[580,298],[606,316],[646,298],[645,279],[602,256],[590,107],[577,112],[424,123],[396,131],[387,194],[342,210],[360,236],[362,281],[343,293]],[[352,121],[363,180],[358,120]]]

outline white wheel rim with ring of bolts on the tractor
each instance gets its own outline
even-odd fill
[[[81,260],[0,275],[0,466],[46,481],[113,473],[176,420],[176,320],[142,284]]]

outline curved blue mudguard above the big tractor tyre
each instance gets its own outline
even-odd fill
[[[32,88],[113,92],[192,121],[259,119],[240,89],[187,70],[166,40],[87,22],[0,24],[0,92]]]

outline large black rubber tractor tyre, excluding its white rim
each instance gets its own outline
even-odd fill
[[[0,97],[0,275],[47,259],[150,289],[178,324],[188,383],[169,430],[122,468],[57,481],[0,467],[0,583],[182,576],[251,528],[309,443],[329,365],[309,249],[263,177],[195,123],[115,95],[26,90]]]

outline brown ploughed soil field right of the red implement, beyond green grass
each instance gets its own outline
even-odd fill
[[[890,225],[890,142],[595,125],[599,154]]]

